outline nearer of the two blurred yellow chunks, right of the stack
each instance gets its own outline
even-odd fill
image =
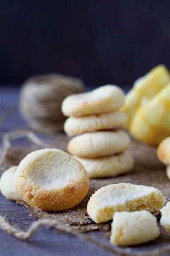
[[[170,83],[138,109],[130,133],[135,139],[155,146],[170,135]]]

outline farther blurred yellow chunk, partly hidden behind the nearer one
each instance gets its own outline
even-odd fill
[[[156,66],[145,76],[134,81],[134,85],[127,93],[126,102],[122,107],[122,111],[128,115],[127,128],[130,127],[138,108],[152,99],[168,82],[170,82],[169,70],[164,65]]]

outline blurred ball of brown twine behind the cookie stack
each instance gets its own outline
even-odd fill
[[[20,112],[35,130],[45,133],[62,131],[66,119],[61,112],[63,99],[81,93],[84,88],[80,79],[56,73],[31,77],[20,90]]]

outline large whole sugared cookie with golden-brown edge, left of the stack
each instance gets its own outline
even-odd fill
[[[15,172],[17,193],[30,206],[47,211],[68,210],[82,201],[89,178],[79,161],[58,149],[28,154]]]

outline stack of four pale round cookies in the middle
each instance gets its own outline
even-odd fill
[[[62,103],[63,114],[70,116],[64,130],[69,136],[77,135],[67,150],[82,163],[89,178],[115,176],[133,168],[133,158],[126,151],[129,136],[119,129],[127,121],[119,110],[124,96],[118,86],[105,85],[70,95]]]

